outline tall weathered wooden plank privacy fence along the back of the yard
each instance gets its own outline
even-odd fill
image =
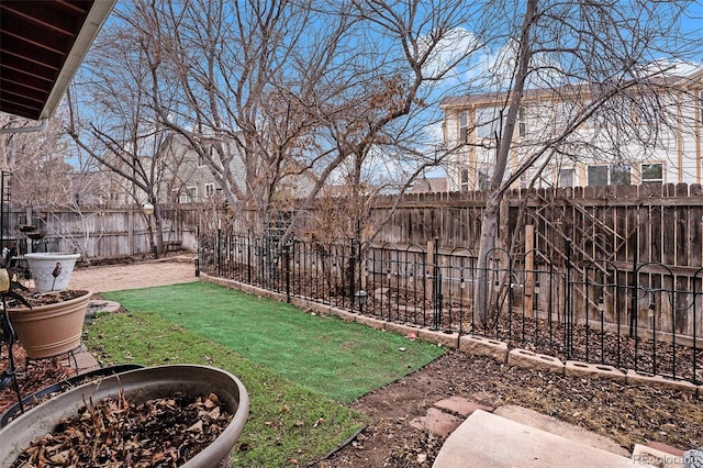
[[[368,224],[379,230],[377,244],[426,246],[438,237],[444,249],[477,252],[484,203],[481,192],[408,194],[397,208],[394,198],[381,197],[372,203]],[[197,248],[201,208],[160,207],[165,242]],[[4,216],[3,238],[25,244],[18,226],[38,221],[46,234],[40,248],[78,248],[91,258],[148,253],[146,219],[136,205],[56,209],[41,216],[10,208]],[[348,222],[356,224],[356,220]],[[505,194],[501,205],[496,245],[507,247],[514,241],[517,253],[535,248],[562,264],[568,238],[577,265],[606,259],[618,269],[632,269],[635,263],[652,261],[690,276],[703,266],[702,223],[699,185],[515,190]],[[534,235],[525,236],[525,225],[534,226]],[[300,230],[308,227],[303,221]],[[540,257],[535,261],[539,265]]]

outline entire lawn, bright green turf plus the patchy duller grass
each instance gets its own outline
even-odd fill
[[[368,424],[341,403],[444,353],[205,282],[102,296],[130,311],[100,314],[86,327],[85,343],[103,366],[204,364],[242,380],[250,417],[233,458],[238,467],[323,458]]]

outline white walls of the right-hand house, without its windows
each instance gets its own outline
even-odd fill
[[[670,97],[660,97],[671,110],[671,115],[667,120],[658,119],[657,127],[652,129],[651,123],[643,121],[641,126],[636,127],[636,132],[627,134],[615,134],[614,126],[599,127],[596,123],[585,123],[578,127],[578,131],[561,143],[565,153],[570,153],[571,157],[553,157],[549,166],[543,171],[542,180],[538,185],[559,185],[559,169],[570,169],[573,174],[573,186],[587,186],[589,183],[589,166],[614,166],[625,165],[631,167],[631,182],[641,183],[643,164],[661,165],[662,183],[701,183],[701,143],[700,143],[700,113],[701,105],[698,97],[699,91],[683,90]],[[489,101],[481,102],[479,98],[471,101],[469,107],[446,107],[445,108],[445,145],[453,151],[454,157],[447,168],[448,189],[460,190],[462,187],[468,190],[476,190],[480,187],[481,170],[491,170],[495,158],[494,142],[477,140],[475,122],[476,115],[486,115],[490,112],[478,112],[476,108],[482,105],[492,107]],[[570,112],[578,110],[573,102],[555,102],[550,99],[525,99],[524,116],[516,126],[514,136],[509,172],[515,170],[526,157],[531,157],[536,152],[544,149],[546,142],[555,138],[562,132],[563,126],[569,122]],[[469,135],[467,144],[460,145],[461,135],[460,123],[461,113],[468,110]],[[635,112],[626,110],[623,112]],[[628,115],[624,115],[628,118]],[[500,125],[496,123],[500,127]],[[522,125],[522,127],[521,127]],[[482,126],[484,130],[484,127]],[[523,133],[521,135],[520,133]],[[649,135],[651,137],[644,142],[636,135]],[[466,134],[466,132],[464,132]],[[615,135],[615,136],[613,136]],[[656,135],[656,137],[654,137]],[[615,141],[616,143],[613,143]],[[543,159],[544,160],[544,159]],[[528,170],[525,177],[513,183],[513,188],[525,187],[537,170]],[[466,183],[468,169],[469,183]],[[462,175],[462,171],[465,172]],[[651,172],[650,172],[651,174]]]

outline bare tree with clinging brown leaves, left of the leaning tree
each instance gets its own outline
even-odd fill
[[[353,7],[355,31],[366,41],[357,43],[358,64],[345,81],[348,99],[322,122],[320,134],[339,158],[334,170],[344,187],[333,191],[344,203],[328,207],[349,214],[348,235],[372,241],[379,224],[392,216],[391,210],[387,220],[371,220],[372,200],[394,193],[397,205],[425,169],[443,164],[446,154],[435,151],[432,132],[443,96],[438,83],[483,46],[481,36],[498,20],[460,1],[354,1]],[[465,30],[469,24],[471,34]],[[303,212],[317,193],[303,201]]]

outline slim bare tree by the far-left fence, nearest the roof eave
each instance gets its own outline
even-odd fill
[[[186,148],[158,123],[150,105],[149,66],[144,43],[156,41],[148,27],[141,35],[113,24],[103,29],[86,59],[69,99],[68,134],[77,146],[122,179],[133,203],[154,205],[152,249],[164,252],[164,193],[180,190],[187,178]],[[152,231],[152,220],[145,214]]]

